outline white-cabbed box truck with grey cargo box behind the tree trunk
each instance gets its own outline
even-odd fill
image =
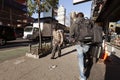
[[[44,26],[44,27],[43,27]],[[40,29],[42,34],[42,41],[48,41],[51,39],[51,25],[48,23],[40,23]],[[24,28],[23,39],[38,41],[39,40],[39,23],[33,23],[33,26],[26,26]]]

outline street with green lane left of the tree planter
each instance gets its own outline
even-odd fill
[[[30,50],[29,44],[38,45],[38,42],[32,42],[24,39],[8,41],[6,45],[0,46],[0,62],[24,56]]]

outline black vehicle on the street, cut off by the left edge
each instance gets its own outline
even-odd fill
[[[0,25],[0,45],[5,45],[7,41],[15,40],[16,34],[11,26]]]

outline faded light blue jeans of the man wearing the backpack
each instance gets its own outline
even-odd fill
[[[86,53],[89,49],[89,45],[75,45],[78,52],[78,60],[79,60],[79,70],[80,70],[80,80],[86,80],[84,75],[84,53]]]

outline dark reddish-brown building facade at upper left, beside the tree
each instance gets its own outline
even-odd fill
[[[33,20],[27,15],[26,0],[0,0],[0,25],[24,27]]]

